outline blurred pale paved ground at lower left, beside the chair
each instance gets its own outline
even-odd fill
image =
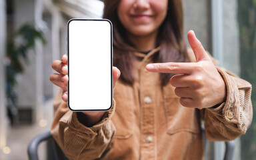
[[[0,156],[1,160],[26,160],[27,146],[29,141],[36,135],[49,131],[53,118],[53,101],[52,99],[43,104],[43,119],[33,125],[19,125],[8,127],[7,129],[7,146],[11,149],[11,153]],[[41,127],[44,126],[44,127]],[[1,155],[1,154],[0,154]],[[39,145],[39,159],[45,158],[45,144]]]

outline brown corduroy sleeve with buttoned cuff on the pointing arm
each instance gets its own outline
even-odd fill
[[[219,69],[227,88],[227,99],[219,106],[202,109],[205,134],[210,141],[231,141],[245,134],[251,125],[251,84]]]

